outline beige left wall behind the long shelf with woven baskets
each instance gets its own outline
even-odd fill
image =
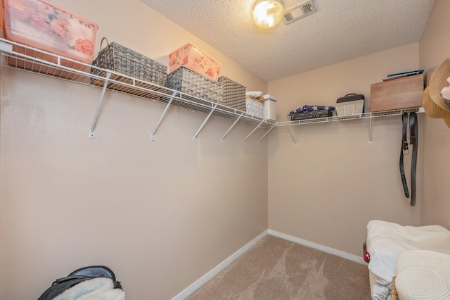
[[[101,37],[167,61],[186,42],[223,75],[252,75],[137,0],[53,0],[100,26]],[[1,68],[0,299],[37,299],[76,268],[112,268],[127,299],[171,299],[267,225],[267,140],[253,126]],[[24,284],[25,282],[25,284]]]

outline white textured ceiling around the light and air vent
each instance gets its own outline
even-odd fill
[[[418,42],[435,2],[314,0],[316,13],[262,30],[256,0],[140,1],[267,81]]]

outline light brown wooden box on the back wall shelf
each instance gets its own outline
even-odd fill
[[[422,106],[423,74],[371,85],[371,111],[392,111]]]

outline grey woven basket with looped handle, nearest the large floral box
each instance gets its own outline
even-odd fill
[[[101,47],[103,40],[107,45],[98,52],[92,65],[164,87],[167,66],[115,42],[108,43],[105,37],[101,40]],[[91,68],[91,73],[100,75],[101,70]]]

